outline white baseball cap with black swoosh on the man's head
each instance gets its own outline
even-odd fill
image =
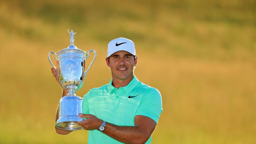
[[[107,57],[110,57],[113,53],[117,51],[127,51],[132,55],[136,56],[134,43],[127,38],[117,38],[108,43]]]

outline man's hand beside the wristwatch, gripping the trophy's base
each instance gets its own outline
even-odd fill
[[[79,114],[79,117],[86,118],[83,121],[77,122],[80,126],[82,126],[85,130],[94,130],[98,129],[98,126],[103,123],[103,120],[97,118],[91,114]]]

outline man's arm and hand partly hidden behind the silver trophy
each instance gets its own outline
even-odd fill
[[[56,69],[55,67],[52,67],[52,74],[53,76],[55,77],[55,79],[58,81],[58,83],[60,83],[59,81],[59,72],[58,72],[58,69]],[[62,97],[68,95],[68,92],[66,90],[63,89],[62,91]],[[55,122],[59,119],[59,105],[57,107],[57,111],[56,111],[56,118],[55,118]],[[55,123],[54,123],[55,124]],[[72,131],[66,131],[66,130],[61,130],[61,129],[58,129],[56,126],[55,126],[55,130],[58,134],[62,134],[62,135],[66,135],[66,134],[69,134],[71,133]]]

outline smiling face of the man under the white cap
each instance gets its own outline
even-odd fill
[[[133,67],[137,64],[138,57],[134,57],[127,51],[118,51],[106,58],[106,63],[110,67],[112,77],[126,80],[133,76]]]

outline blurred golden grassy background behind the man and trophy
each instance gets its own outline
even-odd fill
[[[97,52],[80,97],[110,81],[108,42],[134,41],[136,77],[162,94],[153,144],[256,143],[255,9],[254,0],[0,1],[0,143],[87,143],[85,130],[54,129],[62,88],[47,56],[69,46],[67,29]]]

